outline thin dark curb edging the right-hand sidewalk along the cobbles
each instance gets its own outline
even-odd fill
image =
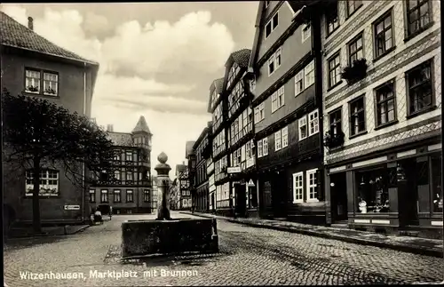
[[[184,212],[181,212],[184,213]],[[187,214],[187,213],[185,213]],[[213,216],[207,216],[202,214],[193,214],[194,216],[200,216],[203,218],[216,218]],[[216,218],[218,219],[218,218]],[[323,237],[323,238],[329,238],[334,240],[340,240],[346,243],[356,243],[361,245],[369,245],[369,246],[375,246],[380,248],[387,248],[392,249],[395,251],[403,251],[408,253],[415,253],[420,255],[427,255],[432,257],[438,257],[440,259],[444,256],[444,251],[437,250],[437,249],[428,249],[428,248],[421,248],[416,246],[409,246],[405,244],[395,244],[395,243],[381,243],[374,240],[368,240],[368,239],[361,239],[356,237],[350,237],[350,236],[343,236],[343,235],[331,235],[331,234],[325,234],[321,232],[311,231],[311,230],[304,230],[304,229],[297,229],[297,228],[289,228],[289,227],[279,227],[279,226],[269,226],[264,224],[258,224],[258,223],[251,223],[251,222],[242,222],[240,220],[236,219],[222,219],[226,220],[231,223],[237,223],[237,224],[243,224],[250,227],[258,227],[258,228],[265,228],[265,229],[273,229],[273,230],[279,230],[279,231],[286,231],[290,233],[297,233],[302,235],[311,235],[311,236],[317,236],[317,237]]]

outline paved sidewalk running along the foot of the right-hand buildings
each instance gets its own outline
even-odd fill
[[[372,232],[357,231],[353,229],[313,226],[289,221],[256,219],[256,218],[227,218],[198,212],[180,212],[188,215],[215,218],[228,222],[239,223],[251,227],[269,228],[274,230],[288,231],[303,235],[312,235],[329,239],[337,239],[348,243],[372,245],[397,251],[405,251],[434,257],[443,257],[443,242],[436,239],[425,239],[400,235],[380,235]]]

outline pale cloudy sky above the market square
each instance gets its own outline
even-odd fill
[[[231,52],[250,48],[258,2],[2,4],[36,33],[100,64],[92,100],[99,124],[131,132],[139,116],[173,170],[206,123],[211,82]]]

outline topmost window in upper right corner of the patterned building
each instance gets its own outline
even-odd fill
[[[432,20],[432,1],[416,0],[406,1],[407,19],[408,19],[408,36],[412,36],[423,30]]]

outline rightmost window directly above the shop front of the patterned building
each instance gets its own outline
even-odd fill
[[[433,105],[432,61],[409,70],[406,73],[408,82],[408,112],[415,114]]]

